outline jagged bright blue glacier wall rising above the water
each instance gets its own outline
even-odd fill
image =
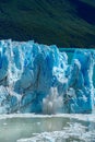
[[[0,114],[92,113],[95,51],[0,40]]]

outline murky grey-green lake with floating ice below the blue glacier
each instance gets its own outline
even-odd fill
[[[1,115],[0,142],[95,142],[95,115]]]

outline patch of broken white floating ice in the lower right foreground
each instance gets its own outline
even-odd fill
[[[95,140],[95,130],[87,131],[85,126],[78,122],[68,123],[61,131],[41,132],[36,137],[21,139],[17,142],[93,142]]]

